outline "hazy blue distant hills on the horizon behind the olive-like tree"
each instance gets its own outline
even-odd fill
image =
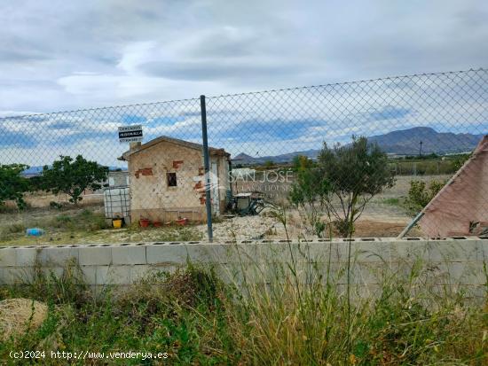
[[[417,155],[422,142],[422,154],[437,153],[444,155],[456,152],[470,152],[475,149],[484,135],[454,134],[452,132],[437,132],[434,128],[414,127],[392,131],[384,135],[368,136],[370,142],[376,142],[383,151],[397,155]],[[264,164],[267,160],[275,163],[286,163],[296,155],[304,155],[311,159],[317,158],[320,150],[304,152],[289,152],[275,156],[252,157],[241,152],[232,158],[235,164]]]

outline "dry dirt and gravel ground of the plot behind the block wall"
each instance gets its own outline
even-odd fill
[[[356,222],[355,237],[396,237],[412,221],[412,215],[405,209],[389,202],[390,199],[405,198],[410,181],[413,179],[442,181],[447,175],[398,176],[397,183],[390,190],[382,192],[367,206]],[[207,238],[206,224],[193,224],[185,227],[169,226],[141,229],[137,225],[114,230],[106,228],[103,206],[99,198],[88,196],[84,206],[67,206],[62,210],[50,208],[53,197],[28,197],[31,204],[25,212],[7,209],[0,212],[0,245],[61,245],[91,243],[125,243],[140,241],[192,241]],[[41,206],[41,207],[40,207]],[[88,214],[83,210],[90,211]],[[258,216],[235,216],[223,218],[214,223],[216,240],[314,238],[304,224],[298,211],[288,210],[287,232],[276,219],[264,213]],[[45,234],[39,238],[25,236],[25,230],[39,227]],[[411,236],[421,232],[412,230]]]

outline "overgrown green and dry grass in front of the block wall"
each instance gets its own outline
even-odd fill
[[[0,359],[23,364],[9,358],[12,350],[88,349],[166,352],[163,363],[179,365],[486,364],[488,308],[462,292],[431,292],[422,284],[428,269],[414,265],[406,276],[383,276],[378,293],[352,302],[349,328],[337,284],[341,270],[327,276],[315,267],[303,284],[291,268],[275,269],[270,278],[279,281],[267,286],[245,281],[237,287],[209,267],[189,264],[97,295],[73,264],[60,278],[38,271],[30,284],[1,290],[0,300],[41,300],[49,316],[40,329],[0,343]]]

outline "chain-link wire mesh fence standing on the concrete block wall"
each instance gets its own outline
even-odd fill
[[[207,208],[222,240],[486,235],[487,82],[479,69],[203,98],[208,175],[201,99],[3,118],[1,239],[194,240]],[[142,144],[120,143],[134,125]]]

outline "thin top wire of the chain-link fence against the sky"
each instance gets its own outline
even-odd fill
[[[343,85],[353,85],[353,84],[359,84],[359,83],[365,83],[365,82],[382,82],[382,81],[390,81],[390,80],[404,79],[404,78],[419,78],[419,77],[451,75],[451,74],[468,74],[468,73],[473,73],[473,72],[479,73],[479,72],[487,72],[487,71],[488,71],[488,67],[479,67],[477,69],[470,68],[468,70],[459,70],[459,71],[447,71],[447,72],[423,73],[423,74],[404,74],[404,75],[386,76],[386,77],[380,77],[380,78],[374,78],[374,79],[363,79],[363,80],[352,81],[352,82],[330,82],[330,83],[326,83],[326,84],[309,85],[309,86],[302,86],[302,87],[290,87],[290,88],[280,88],[280,89],[272,89],[272,90],[249,91],[249,92],[243,92],[243,93],[221,94],[218,96],[206,96],[206,98],[207,99],[216,99],[216,98],[220,98],[220,97],[252,96],[252,95],[266,94],[266,93],[273,93],[273,92],[283,92],[283,91],[292,91],[292,90],[309,90],[309,89],[328,88],[328,87],[336,87],[336,86],[343,86]],[[199,100],[200,100],[200,97],[188,97],[188,98],[164,100],[164,101],[158,101],[158,102],[137,103],[137,104],[132,104],[132,105],[111,105],[111,106],[103,106],[103,107],[64,110],[64,111],[57,111],[57,112],[28,113],[28,114],[20,114],[20,115],[3,116],[3,117],[0,117],[0,121],[8,121],[8,120],[12,120],[12,119],[39,118],[39,117],[43,117],[43,116],[47,116],[47,115],[53,115],[53,114],[89,113],[89,112],[110,111],[110,110],[122,109],[122,108],[136,108],[136,107],[147,107],[147,106],[154,106],[154,105],[188,103],[188,102],[196,102]]]

